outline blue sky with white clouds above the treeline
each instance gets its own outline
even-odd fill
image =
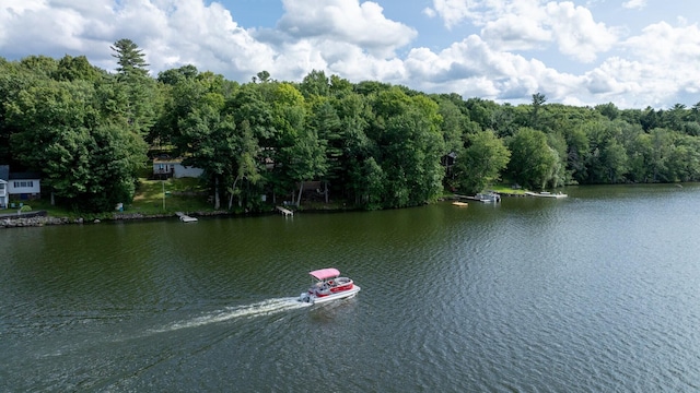
[[[0,57],[88,57],[129,38],[153,76],[194,64],[241,83],[313,70],[514,105],[700,102],[695,0],[0,0]]]

